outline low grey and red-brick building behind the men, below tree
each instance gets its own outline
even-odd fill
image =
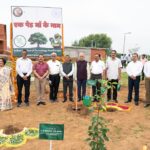
[[[74,60],[78,59],[79,53],[85,54],[85,59],[91,62],[94,59],[95,54],[100,54],[102,59],[106,59],[105,48],[90,48],[90,47],[74,47],[65,46],[64,55],[70,55]]]

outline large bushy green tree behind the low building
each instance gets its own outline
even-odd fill
[[[111,44],[112,40],[107,34],[90,34],[79,41],[74,41],[72,46],[111,48]]]

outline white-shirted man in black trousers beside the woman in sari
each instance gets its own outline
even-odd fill
[[[30,77],[32,73],[32,61],[27,58],[27,50],[22,50],[22,57],[16,61],[17,71],[17,87],[18,87],[18,104],[17,107],[21,106],[22,103],[22,88],[25,87],[25,104],[29,106],[29,95],[30,95]]]

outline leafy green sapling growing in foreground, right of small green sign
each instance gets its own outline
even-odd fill
[[[109,131],[109,129],[107,128],[107,121],[105,120],[105,118],[100,116],[100,111],[106,111],[105,98],[103,96],[105,95],[107,89],[110,88],[110,86],[108,85],[108,81],[106,80],[98,80],[98,82],[101,83],[101,87],[99,89],[101,91],[101,94],[96,94],[94,95],[94,97],[96,96],[99,102],[96,103],[96,107],[94,106],[93,108],[90,108],[90,112],[96,110],[97,114],[94,115],[91,119],[91,125],[88,128],[89,137],[86,139],[86,141],[89,143],[91,150],[106,150],[105,141],[109,141],[109,138],[107,136],[107,132]]]

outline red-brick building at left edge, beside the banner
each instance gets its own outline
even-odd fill
[[[6,25],[0,24],[0,54],[7,50],[7,32]]]

